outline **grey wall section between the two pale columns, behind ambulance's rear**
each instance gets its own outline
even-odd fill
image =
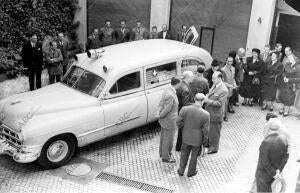
[[[194,25],[200,35],[202,26],[215,28],[212,55],[225,60],[230,50],[246,46],[251,6],[252,0],[173,0],[171,29],[174,33],[183,24]]]

